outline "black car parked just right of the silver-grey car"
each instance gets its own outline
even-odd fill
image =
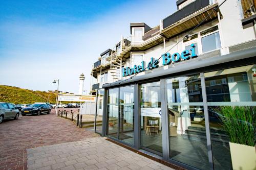
[[[29,107],[23,108],[21,111],[22,115],[26,114],[37,114],[40,115],[41,113],[51,113],[51,108],[47,104],[32,104]]]

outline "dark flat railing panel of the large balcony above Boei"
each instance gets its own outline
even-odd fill
[[[163,29],[172,26],[174,23],[180,21],[181,19],[199,11],[200,9],[207,7],[209,5],[209,0],[196,0],[195,2],[188,4],[184,8],[176,11],[172,15],[163,19]]]

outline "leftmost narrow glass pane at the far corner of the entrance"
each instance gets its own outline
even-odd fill
[[[103,113],[104,89],[98,90],[97,94],[97,112],[95,132],[102,134],[102,113]]]

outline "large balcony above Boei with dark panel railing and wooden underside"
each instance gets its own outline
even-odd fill
[[[214,11],[218,4],[209,4],[208,0],[196,0],[195,2],[176,11],[162,20],[161,35],[172,38],[187,30],[195,28],[204,19],[204,23],[218,17],[218,10]],[[209,17],[206,18],[206,16]]]

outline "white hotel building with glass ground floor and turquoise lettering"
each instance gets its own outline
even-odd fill
[[[256,106],[255,3],[179,0],[158,26],[130,23],[92,69],[95,132],[187,169],[232,169],[215,108]]]

